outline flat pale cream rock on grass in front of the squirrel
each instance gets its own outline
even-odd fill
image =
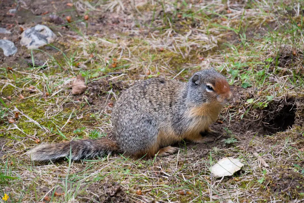
[[[241,163],[239,159],[226,157],[213,165],[210,171],[214,177],[232,176],[233,173],[240,170],[242,166],[244,166],[244,164]]]

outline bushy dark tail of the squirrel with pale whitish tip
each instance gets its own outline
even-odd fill
[[[34,161],[55,160],[62,157],[70,157],[72,160],[88,159],[94,156],[102,156],[112,152],[122,152],[117,142],[108,138],[97,140],[84,139],[71,142],[40,145],[26,152]]]

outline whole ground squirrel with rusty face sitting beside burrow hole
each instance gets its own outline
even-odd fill
[[[225,103],[232,98],[226,78],[216,70],[196,72],[187,83],[152,78],[127,89],[112,111],[116,141],[108,138],[40,145],[27,152],[32,160],[61,157],[72,160],[125,153],[126,156],[166,156],[171,147],[186,139],[195,143],[210,141],[202,132],[213,132],[214,122]]]

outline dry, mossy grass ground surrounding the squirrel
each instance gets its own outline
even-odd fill
[[[44,54],[43,65],[0,69],[0,195],[12,202],[303,201],[303,7],[301,1],[74,2],[102,31],[69,24],[75,35],[60,33],[52,46],[64,48]],[[34,50],[32,59],[43,51]],[[227,76],[234,93],[219,116],[223,124],[213,125],[223,134],[210,145],[180,143],[178,154],[148,160],[110,155],[34,163],[24,155],[45,142],[111,137],[112,103],[125,88],[159,76],[185,82],[209,67]],[[75,96],[70,87],[78,74],[88,89]],[[226,144],[230,138],[238,142]],[[209,168],[227,156],[240,158],[242,170],[212,177]]]

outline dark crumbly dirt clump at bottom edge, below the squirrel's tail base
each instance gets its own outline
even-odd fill
[[[83,200],[81,202],[130,202],[126,192],[119,183],[95,183],[86,188],[86,191],[94,194],[94,196],[90,201],[80,196],[78,198]]]

